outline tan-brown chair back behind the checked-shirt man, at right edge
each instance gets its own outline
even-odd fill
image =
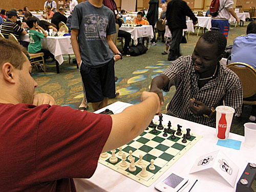
[[[243,62],[233,62],[227,68],[238,75],[243,87],[243,98],[256,94],[256,71]]]

